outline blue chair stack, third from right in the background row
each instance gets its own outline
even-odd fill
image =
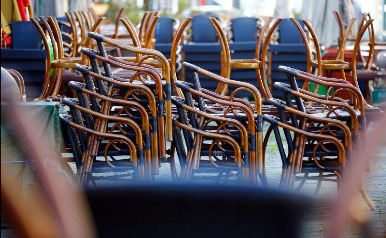
[[[206,69],[212,73],[220,74],[220,53],[221,46],[217,42],[217,34],[208,17],[214,15],[204,14],[195,15],[191,23],[191,42],[183,46],[185,61],[194,64],[200,68]],[[192,82],[191,74],[186,73],[185,79]],[[201,78],[200,78],[201,79]],[[208,77],[202,77],[201,86],[214,91],[218,82],[210,80]]]

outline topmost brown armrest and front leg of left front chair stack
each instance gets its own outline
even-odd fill
[[[168,92],[171,92],[170,66],[169,66],[168,60],[163,56],[163,54],[161,54],[161,52],[155,51],[152,49],[144,49],[144,48],[129,46],[129,45],[126,45],[126,44],[119,42],[115,39],[110,39],[108,37],[105,37],[105,36],[100,35],[100,34],[96,34],[94,32],[89,32],[89,36],[92,37],[93,39],[96,39],[97,41],[100,41],[100,42],[103,42],[103,43],[106,43],[106,44],[109,44],[109,45],[112,45],[115,47],[119,47],[121,49],[130,51],[130,52],[144,54],[144,56],[142,56],[142,58],[141,58],[141,61],[138,62],[139,65],[141,65],[141,63],[143,61],[145,61],[147,58],[150,58],[150,57],[158,60],[162,64],[163,76],[166,80],[166,92],[167,92],[166,95],[171,95],[171,93],[168,93]],[[168,141],[171,141],[173,138],[172,122],[171,122],[171,101],[170,100],[171,99],[168,97],[165,99],[166,140],[168,140]]]

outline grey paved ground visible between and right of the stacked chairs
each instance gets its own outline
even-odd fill
[[[266,127],[264,127],[266,129]],[[374,130],[374,125],[369,130]],[[284,137],[283,137],[284,138]],[[361,211],[369,215],[369,230],[372,231],[372,237],[386,237],[386,137],[383,146],[377,149],[376,155],[371,161],[371,172],[364,174],[364,189],[374,203],[375,211],[369,211],[364,201],[358,196],[358,204]],[[169,145],[168,145],[169,146]],[[177,165],[178,166],[178,165]],[[277,150],[274,137],[271,136],[266,154],[266,172],[271,187],[278,187],[281,176],[281,160]],[[160,174],[156,176],[157,181],[171,181],[170,167],[168,164],[162,164]],[[316,187],[315,181],[307,181],[301,192],[313,196]],[[333,182],[323,182],[320,193],[316,196],[317,203],[307,216],[307,221],[303,225],[303,237],[318,238],[326,237],[329,227],[331,211],[323,201],[331,199],[336,195],[336,184]],[[15,237],[10,229],[1,230],[1,238]],[[348,226],[342,237],[364,237],[356,224]]]

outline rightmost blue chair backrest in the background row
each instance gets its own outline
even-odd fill
[[[304,27],[304,23],[301,19],[296,19],[301,27]],[[296,28],[296,25],[293,24],[291,19],[283,19],[279,24],[279,42],[280,43],[299,43],[303,44],[303,39]]]

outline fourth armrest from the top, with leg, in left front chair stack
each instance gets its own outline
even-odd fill
[[[69,83],[69,86],[71,88],[74,88],[77,93],[84,93],[90,97],[98,98],[103,101],[108,101],[112,103],[112,105],[122,105],[123,108],[117,113],[117,116],[120,116],[121,113],[125,112],[127,107],[130,108],[135,108],[136,110],[139,111],[141,118],[142,118],[142,128],[144,129],[145,136],[152,138],[152,143],[154,143],[154,138],[157,139],[157,131],[152,131],[150,132],[150,124],[149,124],[149,116],[147,115],[146,109],[144,106],[141,104],[135,102],[135,101],[128,101],[128,100],[120,100],[120,99],[115,99],[111,98],[108,96],[101,95],[99,93],[90,91],[86,88],[80,88],[75,82],[74,84]],[[147,143],[147,142],[146,142]],[[150,149],[151,148],[151,149]],[[147,145],[145,148],[145,162],[146,162],[146,170],[147,170],[147,177],[151,178],[152,177],[152,170],[151,165],[154,166],[154,162],[152,160],[155,160],[155,158],[158,157],[158,150],[157,150],[157,144],[152,144],[152,146]],[[157,160],[155,161],[157,162]]]

